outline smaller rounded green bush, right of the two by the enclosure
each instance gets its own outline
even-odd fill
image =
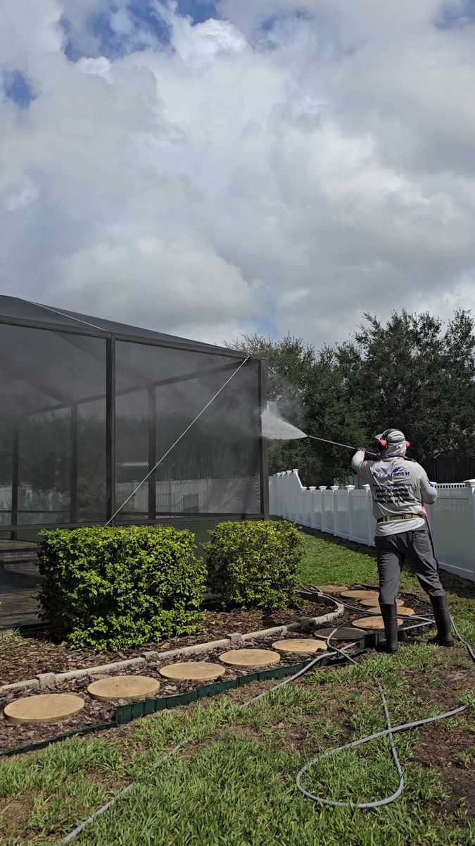
[[[221,523],[205,551],[210,585],[225,602],[269,610],[295,602],[303,541],[292,523]]]

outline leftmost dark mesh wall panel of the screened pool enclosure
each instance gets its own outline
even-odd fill
[[[106,340],[1,324],[0,391],[2,524],[104,517]]]

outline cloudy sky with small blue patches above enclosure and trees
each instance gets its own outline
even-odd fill
[[[475,2],[3,0],[0,292],[221,343],[475,305]]]

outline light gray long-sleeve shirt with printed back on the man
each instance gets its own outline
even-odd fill
[[[437,489],[429,482],[420,464],[407,461],[403,456],[369,461],[364,459],[363,450],[358,450],[353,455],[352,468],[369,484],[376,520],[380,517],[396,517],[398,514],[414,515],[414,519],[377,523],[377,536],[397,535],[422,528],[426,516],[423,506],[435,502]]]

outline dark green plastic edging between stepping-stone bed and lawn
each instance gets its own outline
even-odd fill
[[[431,625],[428,622],[425,625]],[[408,629],[409,630],[409,629]],[[404,629],[399,632],[400,640],[406,640],[406,633]],[[369,632],[359,640],[358,651],[353,652],[353,656],[362,655],[363,652],[368,651],[372,647],[378,645],[379,640],[385,637],[384,632]],[[244,684],[251,682],[264,682],[272,678],[286,678],[292,676],[303,670],[308,664],[307,661],[300,661],[298,664],[287,664],[287,667],[272,667],[270,670],[260,670],[257,673],[247,673],[245,676],[238,676],[229,681],[216,682],[214,684],[204,684],[196,690],[191,690],[189,693],[178,694],[177,696],[162,696],[155,699],[146,699],[141,702],[133,702],[130,705],[118,706],[116,710],[116,718],[112,722],[100,722],[93,726],[85,726],[85,728],[78,728],[74,732],[58,734],[55,738],[47,740],[40,740],[38,743],[29,744],[27,746],[19,746],[17,749],[8,750],[7,752],[0,752],[1,758],[8,758],[12,755],[22,755],[24,752],[34,752],[35,750],[45,749],[53,743],[59,743],[62,740],[68,740],[72,737],[77,737],[82,734],[91,734],[94,732],[105,731],[108,728],[117,728],[118,726],[126,725],[132,720],[137,720],[139,717],[147,717],[150,714],[156,714],[158,711],[167,711],[178,706],[190,705],[199,699],[207,699],[210,696],[216,696],[220,693],[225,693],[227,690],[232,690],[238,687],[243,687]],[[344,656],[329,655],[322,656],[319,662],[320,667],[325,667],[327,664],[341,664],[345,661]]]

